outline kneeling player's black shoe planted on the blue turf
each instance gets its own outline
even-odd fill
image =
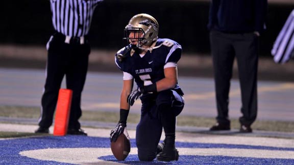
[[[164,147],[162,152],[156,155],[158,161],[173,161],[179,160],[179,151],[174,148]]]

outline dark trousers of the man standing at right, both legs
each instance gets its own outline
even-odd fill
[[[210,32],[217,117],[221,124],[229,124],[229,90],[234,58],[237,59],[241,88],[239,121],[251,125],[257,117],[258,36],[254,33],[227,34]]]

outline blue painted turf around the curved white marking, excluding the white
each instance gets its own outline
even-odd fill
[[[131,146],[136,147],[135,140]],[[294,151],[294,148],[264,147],[250,145],[176,143],[177,148],[228,148]],[[68,164],[56,161],[45,161],[21,156],[19,152],[48,148],[110,148],[109,138],[79,135],[42,136],[0,141],[0,164]],[[179,161],[172,162],[140,162],[137,155],[129,155],[125,161],[117,161],[113,155],[97,157],[105,161],[122,162],[126,164],[294,164],[293,159],[250,158],[233,156],[198,156],[181,155]]]

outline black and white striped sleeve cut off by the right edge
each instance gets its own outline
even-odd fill
[[[294,57],[294,10],[287,18],[274,43],[272,55],[274,61],[280,64],[286,63]]]

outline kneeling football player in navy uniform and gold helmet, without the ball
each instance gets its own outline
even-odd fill
[[[184,107],[178,85],[177,62],[182,47],[170,39],[158,38],[158,22],[148,14],[131,18],[125,28],[128,45],[116,54],[115,63],[124,73],[120,95],[120,120],[110,140],[124,132],[130,106],[140,98],[141,118],[136,128],[136,145],[141,161],[179,159],[175,147],[176,117]],[[133,91],[134,81],[137,89]],[[159,144],[162,128],[165,139]]]

